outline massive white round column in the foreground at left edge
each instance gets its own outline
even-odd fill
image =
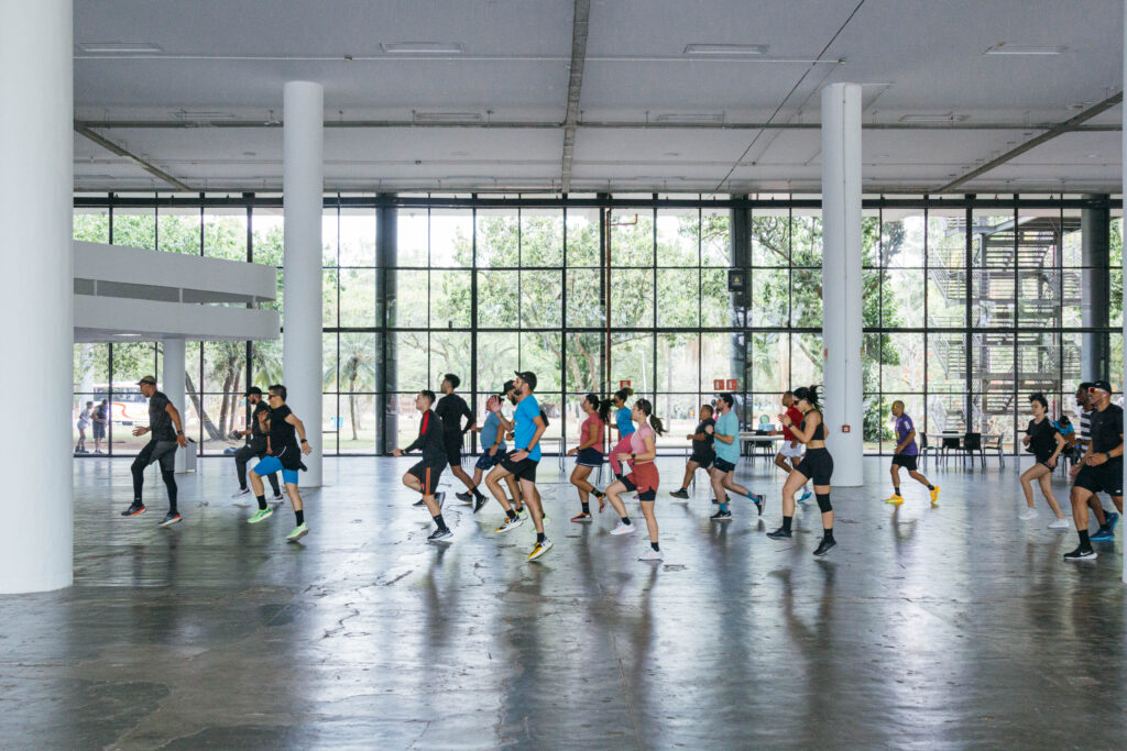
[[[0,1],[3,593],[73,581],[72,25],[70,0]]]

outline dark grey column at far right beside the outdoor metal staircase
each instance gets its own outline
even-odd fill
[[[1094,205],[1084,208],[1080,215],[1082,238],[1081,263],[1084,266],[1081,284],[1081,325],[1106,329],[1108,311],[1111,307],[1110,222],[1107,195],[1084,196]],[[1085,381],[1108,377],[1108,333],[1085,333],[1081,354],[1080,375]]]

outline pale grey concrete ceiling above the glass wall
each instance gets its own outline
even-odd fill
[[[592,0],[571,191],[816,191],[810,126],[818,92],[835,81],[864,84],[867,190],[935,190],[1121,91],[1121,8]],[[325,84],[329,190],[558,190],[574,9],[575,0],[76,0],[74,116],[193,189],[276,190],[283,83],[313,80]],[[83,50],[99,43],[157,48]],[[461,52],[382,46],[396,43]],[[1063,51],[983,54],[1000,43]],[[766,51],[698,57],[690,44]],[[434,114],[462,122],[419,123]],[[902,120],[926,116],[955,123]],[[1118,193],[1120,124],[1117,106],[959,191]],[[74,180],[78,190],[169,189],[79,134]]]

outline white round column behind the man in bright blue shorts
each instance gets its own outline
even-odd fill
[[[313,453],[301,484],[321,484],[321,203],[325,90],[290,81],[284,92],[283,208],[285,263],[282,373],[286,403],[305,423]]]

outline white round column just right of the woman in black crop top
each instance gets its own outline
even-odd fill
[[[822,90],[822,341],[834,485],[861,485],[861,87]]]

